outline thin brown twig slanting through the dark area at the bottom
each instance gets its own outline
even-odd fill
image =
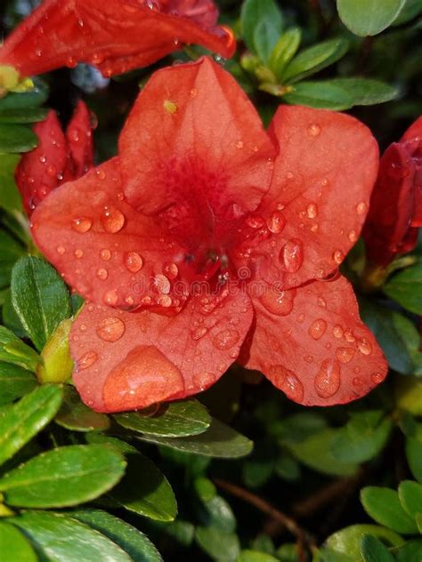
[[[225,492],[238,497],[244,502],[250,503],[255,506],[257,510],[262,511],[265,515],[268,515],[274,521],[277,521],[280,526],[288,529],[288,531],[297,539],[300,562],[304,562],[306,560],[305,549],[312,549],[312,547],[315,546],[315,542],[312,536],[296,523],[295,519],[288,517],[288,515],[280,510],[276,510],[271,503],[268,503],[258,495],[245,490],[245,488],[231,484],[231,482],[227,482],[221,478],[214,478],[214,482],[216,486]]]

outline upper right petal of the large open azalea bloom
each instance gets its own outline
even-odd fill
[[[257,276],[288,288],[328,277],[357,241],[378,150],[364,124],[323,109],[281,106],[270,132],[280,155],[254,225],[265,231],[245,234],[244,253]]]

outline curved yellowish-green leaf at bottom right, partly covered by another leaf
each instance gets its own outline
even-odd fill
[[[382,539],[391,546],[402,546],[404,541],[400,534],[377,525],[353,525],[331,534],[327,539],[329,549],[350,556],[353,562],[364,562],[361,556],[361,540],[365,534]]]

